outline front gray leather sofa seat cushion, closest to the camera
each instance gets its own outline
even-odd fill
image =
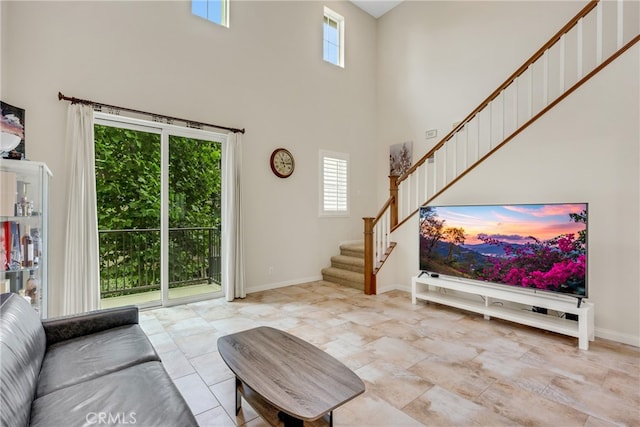
[[[160,362],[147,362],[37,398],[31,425],[197,426]]]

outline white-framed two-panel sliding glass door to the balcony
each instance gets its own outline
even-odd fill
[[[224,140],[96,113],[102,307],[222,296]]]

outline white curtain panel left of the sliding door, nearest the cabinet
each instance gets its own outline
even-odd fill
[[[63,314],[76,314],[100,308],[93,108],[70,104],[67,114],[62,310]]]

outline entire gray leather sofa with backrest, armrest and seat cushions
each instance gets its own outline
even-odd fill
[[[41,321],[0,295],[0,426],[197,426],[123,307]]]

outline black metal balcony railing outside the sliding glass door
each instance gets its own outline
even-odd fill
[[[100,297],[160,289],[160,229],[100,230]],[[169,288],[221,284],[220,229],[169,229]]]

